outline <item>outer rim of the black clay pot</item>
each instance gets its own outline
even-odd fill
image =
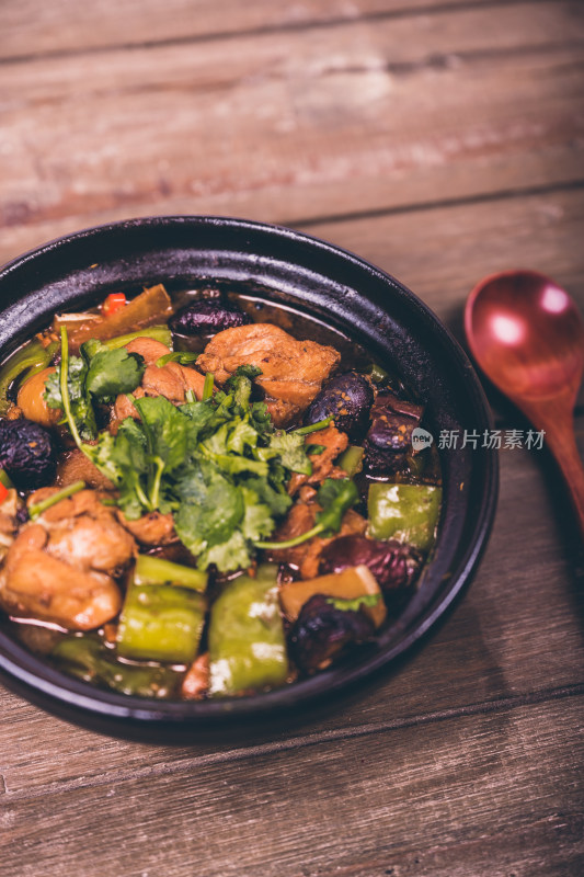
[[[28,262],[37,260],[47,253],[53,253],[60,248],[66,248],[76,241],[111,232],[123,232],[125,229],[161,225],[228,226],[241,231],[249,230],[285,238],[297,243],[308,244],[321,252],[340,255],[366,274],[380,280],[385,284],[389,284],[394,291],[405,296],[442,337],[442,341],[446,343],[453,361],[463,373],[466,388],[474,405],[476,413],[482,417],[482,422],[486,429],[491,430],[493,428],[486,397],[467,354],[450,331],[424,301],[396,277],[355,253],[285,226],[229,216],[206,215],[147,216],[107,223],[55,238],[26,251],[0,269],[0,283],[10,277],[13,271],[21,269]],[[499,458],[496,454],[490,454],[484,458],[483,481],[483,502],[477,513],[472,537],[469,539],[462,559],[451,574],[446,589],[440,593],[439,600],[425,606],[425,611],[413,619],[413,624],[404,627],[402,635],[396,639],[392,646],[382,650],[378,649],[376,653],[371,653],[369,658],[354,667],[341,665],[332,668],[293,685],[247,697],[228,697],[203,702],[165,702],[138,698],[95,688],[89,683],[78,681],[48,667],[23,646],[20,646],[0,631],[0,671],[9,686],[24,693],[30,699],[38,701],[39,698],[39,703],[48,709],[55,708],[56,705],[57,711],[59,711],[58,706],[60,704],[66,709],[73,707],[73,717],[76,710],[80,710],[80,715],[84,714],[85,720],[88,716],[90,718],[93,716],[96,719],[103,717],[107,720],[113,720],[114,725],[121,724],[122,726],[128,721],[138,722],[139,725],[146,722],[149,727],[159,725],[172,727],[188,722],[195,729],[197,726],[205,727],[218,721],[224,724],[226,719],[231,717],[233,719],[250,717],[261,719],[266,715],[280,715],[290,707],[296,709],[299,706],[314,704],[317,699],[328,698],[342,691],[350,690],[356,683],[373,676],[381,668],[410,650],[427,635],[431,628],[436,626],[438,619],[446,614],[461,594],[481,560],[492,529],[499,496]]]

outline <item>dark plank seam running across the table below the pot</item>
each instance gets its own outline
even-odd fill
[[[436,710],[435,713],[404,717],[393,721],[370,722],[352,728],[335,728],[330,731],[316,731],[313,733],[293,737],[288,740],[260,743],[257,745],[231,750],[229,752],[217,752],[195,758],[187,758],[171,764],[163,762],[161,764],[153,765],[152,767],[141,767],[135,771],[116,771],[113,774],[96,774],[90,778],[78,777],[76,779],[66,779],[30,790],[25,789],[21,791],[10,791],[9,783],[7,782],[7,777],[4,775],[5,795],[2,796],[2,799],[4,801],[20,801],[30,798],[41,798],[45,795],[75,791],[80,788],[96,788],[100,786],[111,785],[113,782],[125,783],[134,779],[172,776],[184,773],[185,771],[192,771],[194,767],[214,764],[229,764],[238,761],[247,761],[249,759],[260,758],[262,755],[275,755],[280,752],[306,749],[307,747],[319,745],[321,743],[331,743],[336,741],[340,742],[360,737],[370,737],[373,734],[402,730],[404,728],[424,727],[426,725],[435,725],[440,721],[449,721],[457,718],[485,716],[493,713],[509,711],[525,706],[534,706],[537,704],[545,704],[583,695],[584,682],[575,683],[573,685],[563,685],[558,688],[542,688],[538,692],[527,692],[525,694],[502,697],[495,701],[484,701],[477,704],[468,704],[462,707],[440,709]]]

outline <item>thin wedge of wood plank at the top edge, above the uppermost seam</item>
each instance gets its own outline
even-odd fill
[[[83,52],[172,39],[201,39],[275,27],[352,22],[367,15],[424,14],[444,7],[469,7],[490,0],[110,0],[80,4],[75,0],[4,0],[0,7],[0,58],[36,53]],[[496,0],[495,0],[496,4]]]

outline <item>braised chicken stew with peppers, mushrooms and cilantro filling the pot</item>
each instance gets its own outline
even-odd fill
[[[159,284],[0,367],[0,624],[73,676],[266,692],[375,648],[432,551],[424,409],[340,330]]]

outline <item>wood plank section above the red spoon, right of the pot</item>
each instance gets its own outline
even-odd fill
[[[467,295],[511,267],[552,276],[584,308],[584,190],[314,223],[311,235],[399,277],[459,331]]]

